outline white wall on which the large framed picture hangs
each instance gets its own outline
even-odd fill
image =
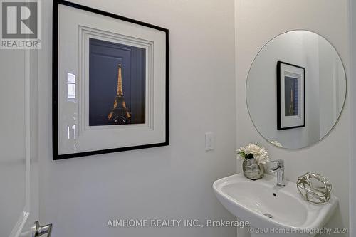
[[[39,71],[42,223],[53,237],[236,236],[236,228],[107,228],[109,218],[232,219],[211,185],[234,174],[234,1],[76,0],[170,30],[169,147],[63,161],[51,155],[51,1]],[[204,150],[214,132],[216,149]]]

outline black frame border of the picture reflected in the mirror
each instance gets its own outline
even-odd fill
[[[303,92],[301,93],[303,96],[303,125],[293,125],[293,126],[282,126],[282,118],[283,118],[283,110],[281,109],[281,90],[284,90],[284,88],[281,88],[282,80],[284,80],[284,76],[282,77],[281,75],[281,65],[288,65],[290,67],[294,68],[300,68],[303,70],[303,87],[302,90]],[[284,85],[284,83],[283,83]],[[291,63],[286,63],[283,61],[278,61],[277,62],[277,130],[290,130],[290,129],[295,129],[295,128],[300,128],[300,127],[305,127],[305,68],[299,66],[299,65],[294,65]]]

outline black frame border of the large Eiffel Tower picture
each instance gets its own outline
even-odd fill
[[[59,154],[58,152],[58,18],[59,18],[59,6],[70,6],[75,9],[80,9],[83,11],[89,11],[93,14],[100,14],[103,16],[108,16],[113,19],[119,19],[121,21],[127,21],[134,23],[139,26],[145,26],[148,28],[153,28],[157,31],[162,31],[165,33],[165,141],[156,144],[142,144],[132,147],[120,147],[114,149],[100,149],[95,151],[80,152],[73,154]],[[69,159],[74,157],[85,157],[97,154],[107,154],[112,152],[124,152],[134,149],[147,149],[152,147],[163,147],[169,145],[169,30],[167,28],[162,28],[160,26],[155,26],[150,23],[145,23],[142,21],[137,21],[135,19],[130,19],[125,16],[119,16],[117,14],[112,14],[107,11],[101,11],[98,9],[93,9],[88,6],[83,6],[80,4],[75,4],[70,1],[64,0],[53,0],[53,58],[52,58],[52,132],[53,132],[53,160],[59,159]]]

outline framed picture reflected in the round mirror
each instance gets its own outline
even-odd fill
[[[305,68],[277,63],[277,129],[305,127]]]

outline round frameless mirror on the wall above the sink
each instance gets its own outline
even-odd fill
[[[340,56],[310,31],[273,38],[248,73],[246,100],[253,125],[269,142],[287,149],[308,147],[328,135],[345,97]]]

